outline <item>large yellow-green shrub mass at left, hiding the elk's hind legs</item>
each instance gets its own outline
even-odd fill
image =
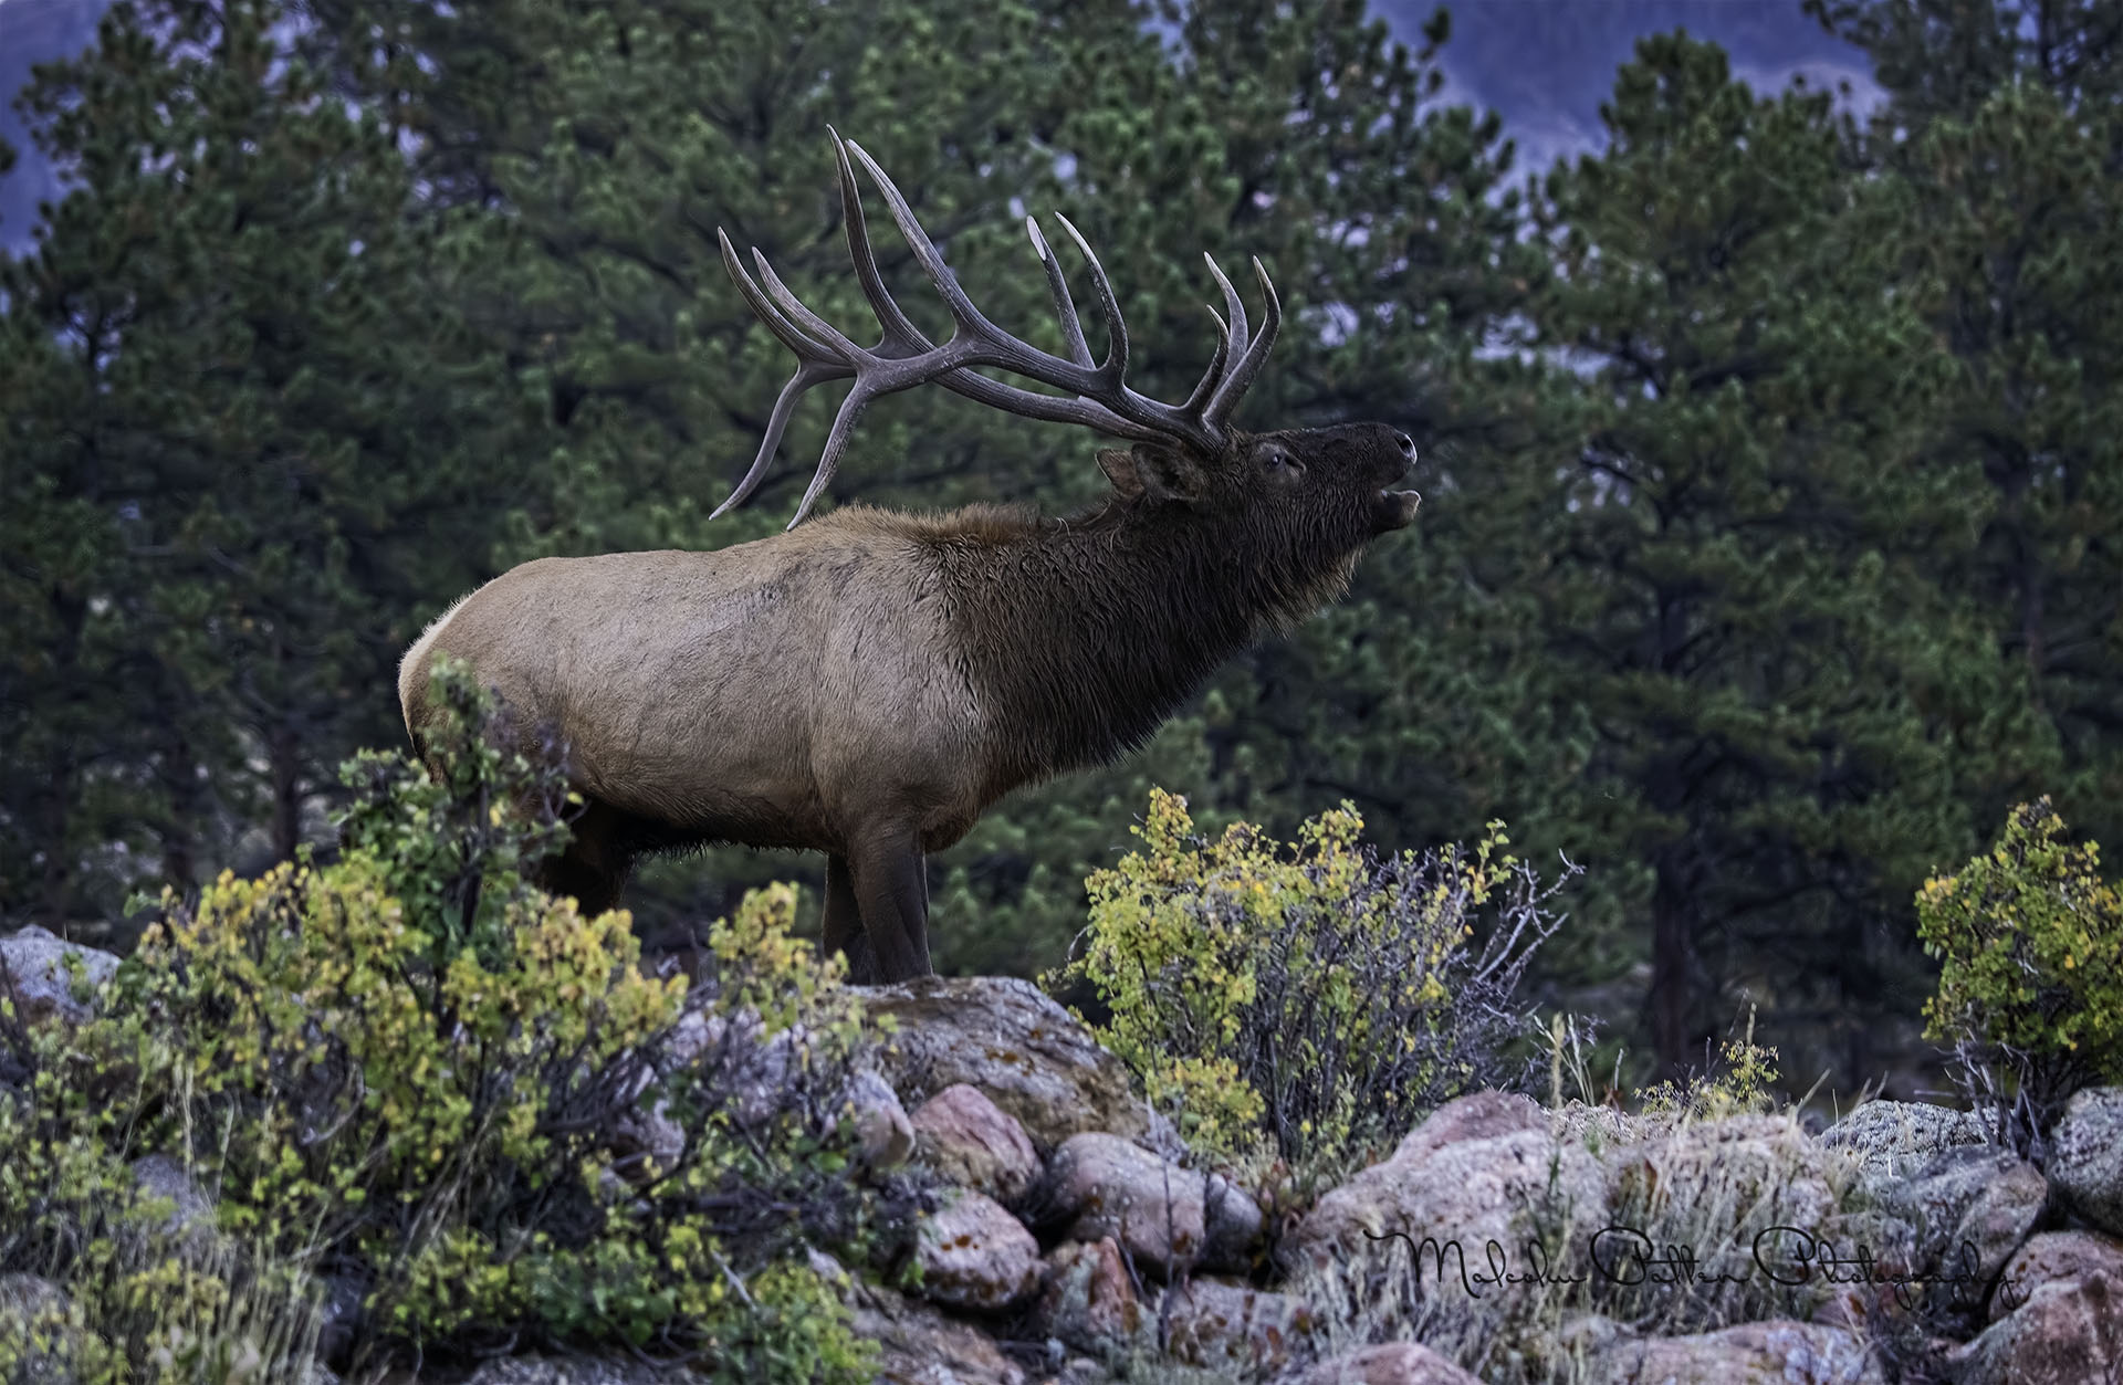
[[[904,1239],[915,1196],[853,1177],[864,1035],[839,961],[790,937],[794,889],[718,923],[696,984],[643,971],[624,912],[584,918],[527,880],[567,840],[554,757],[522,753],[463,670],[435,691],[454,708],[429,747],[446,781],[350,761],[338,861],[166,897],[104,1016],[38,1058],[11,1118],[64,1196],[0,1181],[53,1209],[30,1258],[70,1266],[68,1285],[110,1279],[81,1245],[121,1241],[96,1230],[132,1215],[119,1160],[170,1152],[242,1266],[361,1287],[333,1362],[350,1374],[546,1343],[686,1355],[713,1379],[870,1379],[811,1251]],[[178,1262],[166,1296],[236,1302],[257,1279],[242,1266]],[[121,1292],[140,1298],[96,1302]],[[183,1338],[180,1317],[140,1321],[138,1340],[98,1330],[113,1379],[161,1379]]]

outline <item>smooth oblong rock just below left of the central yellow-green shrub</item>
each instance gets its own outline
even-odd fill
[[[1261,1237],[1261,1207],[1219,1175],[1180,1169],[1115,1135],[1068,1137],[1038,1190],[1042,1226],[1072,1241],[1112,1237],[1138,1266],[1244,1268]]]

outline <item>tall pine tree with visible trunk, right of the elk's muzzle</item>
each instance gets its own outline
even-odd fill
[[[1866,1018],[1915,1007],[1909,889],[1974,840],[2002,738],[2040,740],[1998,725],[2010,670],[1932,581],[1981,509],[1923,452],[1949,363],[1826,93],[1758,100],[1660,36],[1603,119],[1609,148],[1548,182],[1535,314],[1577,352],[1580,445],[1524,477],[1552,696],[1594,734],[1573,836],[1650,872],[1669,1071],[1739,995],[1788,1046],[1847,1039],[1788,1056],[1864,1069]]]

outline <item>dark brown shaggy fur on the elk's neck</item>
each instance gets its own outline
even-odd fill
[[[1140,747],[1263,630],[1340,596],[1361,539],[1325,539],[1129,501],[932,522],[960,672],[1004,727],[996,793]]]

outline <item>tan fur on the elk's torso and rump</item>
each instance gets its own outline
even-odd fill
[[[989,725],[949,672],[943,602],[917,600],[936,585],[919,528],[843,509],[720,551],[527,562],[405,658],[408,725],[418,736],[427,658],[444,651],[558,727],[577,787],[616,812],[841,855],[890,795],[936,851],[987,806]],[[883,764],[877,725],[900,732]]]

